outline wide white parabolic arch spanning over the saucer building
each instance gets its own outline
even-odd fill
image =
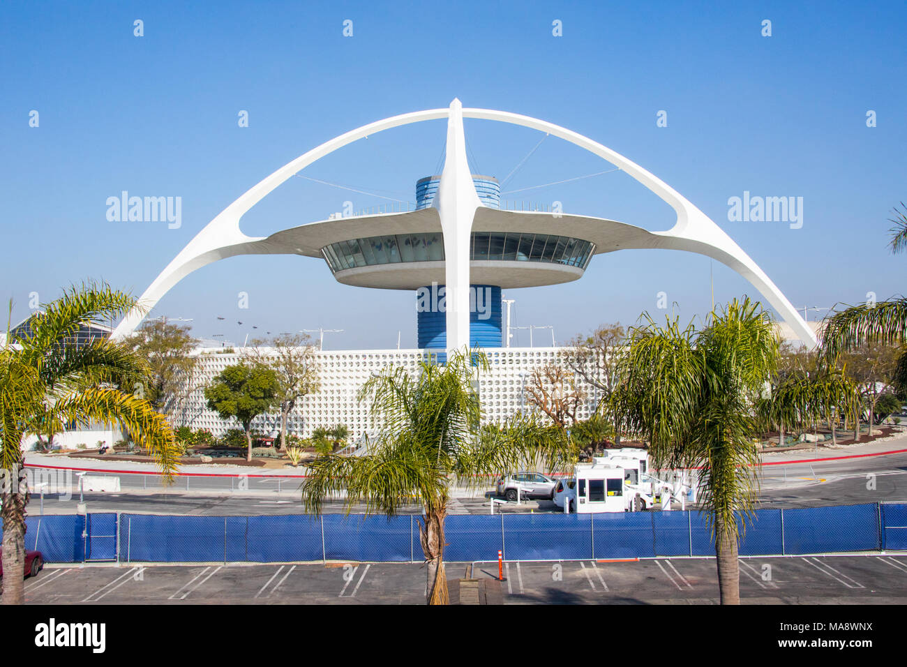
[[[459,107],[459,102],[454,100]],[[355,142],[369,134],[383,132],[394,127],[421,123],[423,121],[449,118],[452,107],[448,109],[430,109],[421,112],[404,113],[375,123],[363,125],[356,130],[346,132],[328,142],[322,143],[317,148],[299,156],[296,160],[288,162],[278,171],[269,175],[263,181],[242,194],[236,201],[221,211],[214,220],[210,221],[189,244],[180,251],[170,264],[161,271],[161,274],[151,283],[139,299],[139,308],[133,309],[120,325],[114,330],[114,338],[127,336],[139,325],[144,317],[144,312],[150,310],[177,282],[185,278],[192,271],[213,261],[222,260],[241,254],[273,254],[281,250],[268,244],[264,237],[250,237],[239,230],[239,219],[261,201],[271,191],[274,191],[293,174],[316,162],[322,157],[335,152],[346,144]],[[460,113],[457,109],[455,113]],[[465,118],[476,118],[501,123],[522,125],[540,132],[548,132],[567,142],[571,142],[586,151],[598,155],[603,160],[627,172],[631,178],[639,181],[659,199],[668,203],[677,213],[678,220],[668,231],[651,232],[660,237],[658,245],[639,245],[639,248],[668,248],[672,250],[686,250],[697,252],[718,260],[741,276],[746,278],[756,289],[768,299],[769,303],[778,311],[782,319],[794,329],[795,334],[810,346],[816,344],[816,338],[805,321],[791,305],[775,283],[768,278],[765,271],[761,270],[756,262],[742,250],[727,233],[708,216],[699,211],[690,201],[675,191],[667,183],[658,179],[654,174],[646,171],[635,162],[631,162],[618,152],[614,152],[599,142],[592,141],[589,137],[578,132],[572,132],[560,125],[541,121],[531,116],[519,113],[494,111],[492,109],[463,108]]]

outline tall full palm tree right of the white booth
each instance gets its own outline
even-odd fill
[[[721,603],[737,604],[737,541],[756,502],[756,399],[778,363],[774,322],[749,299],[716,309],[702,330],[643,318],[620,355],[611,407],[620,426],[649,441],[655,467],[701,468]]]

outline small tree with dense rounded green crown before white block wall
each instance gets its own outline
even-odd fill
[[[205,387],[208,407],[220,417],[236,417],[246,434],[246,460],[252,460],[252,420],[278,404],[280,383],[270,368],[235,364]]]

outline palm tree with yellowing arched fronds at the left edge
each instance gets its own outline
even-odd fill
[[[166,419],[141,397],[149,381],[148,362],[122,343],[93,338],[76,344],[85,325],[122,317],[135,305],[128,295],[104,284],[83,284],[29,320],[29,331],[11,335],[0,349],[0,446],[3,476],[3,603],[24,602],[25,505],[22,437],[53,436],[54,428],[76,422],[119,422],[132,440],[151,452],[169,483],[178,449]],[[134,392],[134,393],[133,393]],[[138,394],[138,396],[137,396]]]

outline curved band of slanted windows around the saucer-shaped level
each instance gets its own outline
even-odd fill
[[[470,260],[541,261],[585,270],[595,253],[595,243],[554,234],[516,231],[475,231],[470,240]],[[327,266],[336,273],[376,264],[444,260],[444,235],[439,232],[372,236],[342,240],[321,249]]]

